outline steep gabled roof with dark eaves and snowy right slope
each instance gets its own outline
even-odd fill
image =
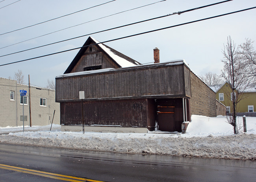
[[[74,68],[76,63],[78,63],[79,59],[82,57],[83,53],[87,50],[90,44],[96,44],[96,46],[98,46],[100,50],[106,53],[106,55],[108,55],[108,57],[112,59],[112,61],[116,63],[117,66],[119,66],[120,68],[136,66],[141,64],[135,61],[134,59],[120,53],[119,51],[116,51],[113,48],[106,46],[105,44],[101,44],[99,41],[93,39],[92,37],[89,37],[83,44],[83,47],[78,51],[77,55],[74,57],[73,61],[70,63],[69,67],[64,72],[64,74],[71,72],[71,70]]]

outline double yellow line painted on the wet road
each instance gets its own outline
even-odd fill
[[[21,172],[21,173],[37,175],[37,176],[43,176],[43,177],[47,177],[47,178],[71,181],[71,182],[84,182],[84,181],[102,182],[102,181],[91,180],[91,179],[86,179],[86,178],[78,178],[78,177],[74,177],[74,176],[60,175],[60,174],[56,174],[56,173],[48,173],[48,172],[44,172],[44,171],[26,169],[26,168],[22,168],[22,167],[16,167],[16,166],[5,165],[5,164],[0,164],[0,168],[11,170],[11,171],[17,171],[17,172]],[[70,179],[68,179],[68,178],[70,178]]]

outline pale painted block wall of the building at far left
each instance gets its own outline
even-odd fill
[[[24,125],[30,125],[29,115],[29,93],[28,86],[17,84],[17,81],[11,79],[0,78],[0,126],[22,126],[23,121],[20,121],[22,116],[22,107],[20,104],[20,90],[26,90],[28,96],[28,105],[24,105],[24,116],[27,116],[27,121]],[[14,100],[10,100],[10,91],[14,91]],[[32,125],[48,125],[52,121],[53,113],[55,124],[59,124],[59,103],[55,102],[55,90],[36,87],[30,87],[31,94],[31,120]],[[46,98],[46,107],[40,106],[40,98]]]

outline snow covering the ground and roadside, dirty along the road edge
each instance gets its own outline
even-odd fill
[[[243,123],[242,117],[237,117]],[[131,154],[256,160],[256,118],[247,117],[247,132],[233,134],[226,118],[192,116],[186,134],[61,132],[60,125],[0,127],[0,142]],[[81,126],[82,127],[82,126]],[[1,134],[2,133],[2,134]],[[4,133],[4,134],[3,134]],[[9,133],[9,134],[6,134]]]

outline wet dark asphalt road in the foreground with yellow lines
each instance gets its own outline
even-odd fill
[[[255,178],[254,161],[96,153],[0,143],[1,182],[230,182]]]

